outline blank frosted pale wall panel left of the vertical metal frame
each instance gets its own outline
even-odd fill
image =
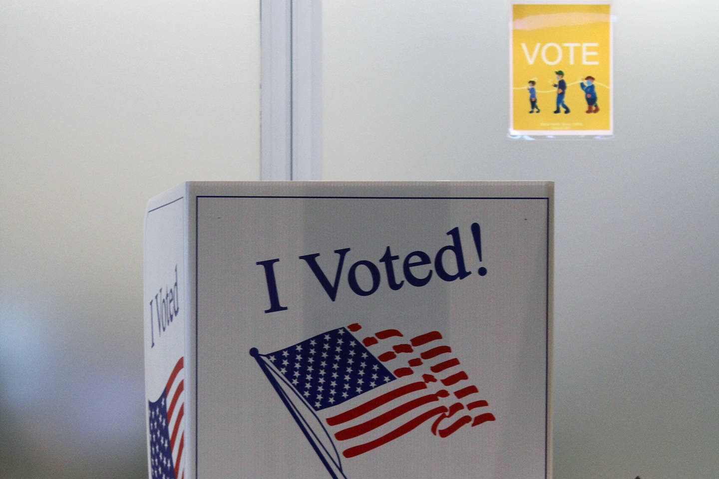
[[[147,477],[145,201],[260,178],[255,0],[0,4],[0,477]]]

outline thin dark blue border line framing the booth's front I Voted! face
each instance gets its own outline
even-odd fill
[[[200,198],[296,198],[298,200],[546,200],[546,271],[544,279],[544,478],[547,477],[549,457],[549,197],[468,197],[468,196],[293,196],[293,195],[197,195],[195,197],[195,479],[198,479],[198,445],[199,445],[199,368],[198,368],[198,320],[199,320],[199,259],[198,259],[198,236],[199,236],[199,203]],[[178,198],[181,200],[182,198]],[[177,200],[175,200],[177,201]],[[175,203],[172,201],[170,203]],[[168,205],[170,204],[168,203]],[[162,205],[166,206],[166,205]],[[162,208],[160,206],[159,208]],[[150,213],[150,212],[148,212]]]

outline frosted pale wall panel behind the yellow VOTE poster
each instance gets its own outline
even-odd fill
[[[554,180],[554,477],[719,471],[719,4],[614,2],[613,141],[508,130],[505,1],[325,1],[325,180]],[[511,454],[511,451],[507,451]]]

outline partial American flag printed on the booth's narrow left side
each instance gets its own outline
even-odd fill
[[[185,394],[183,358],[175,363],[165,390],[150,405],[150,470],[152,479],[183,479]]]

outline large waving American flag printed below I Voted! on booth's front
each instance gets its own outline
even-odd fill
[[[421,424],[446,438],[495,420],[439,332],[406,339],[399,330],[361,330],[353,324],[272,353],[250,350],[332,478],[347,478],[343,458]]]

